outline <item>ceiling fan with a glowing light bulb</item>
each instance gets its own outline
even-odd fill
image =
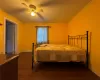
[[[29,10],[31,16],[35,16],[37,14],[42,20],[44,20],[44,17],[40,14],[40,12],[43,12],[43,9],[38,8],[34,4],[29,4],[27,0],[23,0],[21,4]]]

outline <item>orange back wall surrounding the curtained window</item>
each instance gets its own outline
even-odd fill
[[[54,44],[67,43],[67,24],[65,23],[26,23],[22,30],[22,51],[31,51],[32,43],[36,43],[36,27],[35,26],[50,26],[49,42]]]

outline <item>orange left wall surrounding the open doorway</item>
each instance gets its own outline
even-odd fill
[[[18,27],[17,27],[17,48],[18,48],[18,52],[20,52],[20,40],[19,39],[21,36],[21,27],[23,26],[23,23],[20,22],[18,19],[16,19],[15,17],[7,14],[6,12],[4,12],[3,10],[0,9],[0,23],[2,23],[3,25],[0,26],[0,53],[4,52],[5,50],[5,47],[4,47],[4,38],[5,38],[5,22],[4,20],[5,19],[8,19],[10,21],[13,21],[15,23],[18,24]]]

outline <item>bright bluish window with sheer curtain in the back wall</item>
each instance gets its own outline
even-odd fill
[[[48,43],[48,27],[37,27],[37,44]]]

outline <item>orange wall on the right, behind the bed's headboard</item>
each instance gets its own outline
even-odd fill
[[[100,0],[92,0],[68,24],[71,35],[84,34],[87,30],[92,33],[90,68],[100,76]]]

